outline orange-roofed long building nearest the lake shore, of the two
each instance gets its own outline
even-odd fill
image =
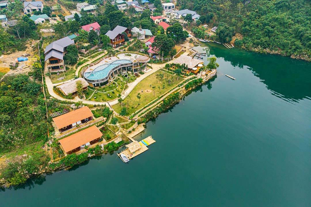
[[[89,146],[98,142],[103,136],[100,130],[95,126],[83,129],[80,132],[65,137],[58,142],[61,144],[66,154],[72,154],[80,151],[85,146]]]

